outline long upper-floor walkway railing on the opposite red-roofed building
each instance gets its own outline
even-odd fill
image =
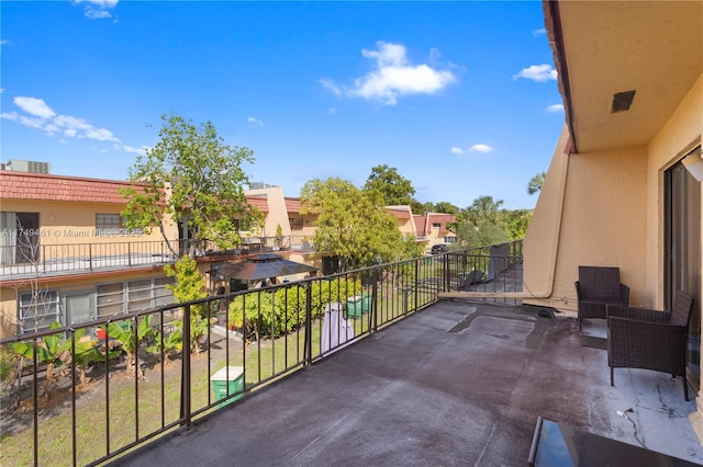
[[[94,271],[160,266],[193,248],[199,258],[237,257],[270,251],[313,251],[305,237],[247,237],[236,249],[222,250],[212,241],[129,241],[111,243],[35,244],[0,247],[3,281]]]

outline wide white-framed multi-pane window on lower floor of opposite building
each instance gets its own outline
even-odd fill
[[[174,303],[174,294],[166,288],[170,277],[115,282],[98,286],[98,316],[138,311]]]

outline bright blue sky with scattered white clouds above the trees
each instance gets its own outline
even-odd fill
[[[254,150],[252,181],[532,208],[563,125],[539,1],[2,1],[0,160],[124,180],[160,115]]]

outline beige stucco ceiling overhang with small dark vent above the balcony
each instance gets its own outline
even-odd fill
[[[703,1],[560,1],[554,20],[579,152],[646,145],[703,72]],[[611,113],[631,90],[631,110]]]

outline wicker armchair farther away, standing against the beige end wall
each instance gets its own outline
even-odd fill
[[[588,318],[605,319],[605,306],[627,305],[629,287],[620,283],[620,267],[579,266],[579,280],[573,283],[579,309],[579,330]]]

